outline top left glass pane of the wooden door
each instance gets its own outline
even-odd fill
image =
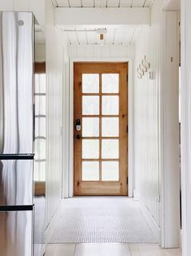
[[[82,74],[82,93],[99,92],[99,74]]]

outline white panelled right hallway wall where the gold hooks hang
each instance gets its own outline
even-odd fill
[[[153,59],[152,29],[145,29],[136,44],[135,55],[135,188],[150,210],[158,227],[160,226],[159,203],[159,151],[158,151],[158,80],[150,80],[149,72],[137,78],[137,66],[144,55],[151,62],[151,68],[158,68]],[[156,40],[157,42],[157,40]],[[156,43],[155,42],[155,43]],[[155,45],[156,47],[156,45]],[[150,51],[150,49],[152,49]],[[155,52],[157,54],[157,52]],[[157,74],[156,74],[157,75]]]

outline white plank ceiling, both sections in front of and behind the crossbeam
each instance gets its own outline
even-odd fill
[[[151,7],[154,0],[54,0],[54,7]],[[99,35],[96,29],[106,29],[104,36],[105,45],[129,45],[133,44],[139,33],[141,26],[116,26],[113,28],[89,28],[84,27],[79,31],[79,26],[61,28],[65,33],[69,44],[76,45],[96,45],[99,44]],[[69,30],[69,31],[66,31]],[[72,30],[72,31],[71,31]],[[95,31],[89,31],[95,30]]]

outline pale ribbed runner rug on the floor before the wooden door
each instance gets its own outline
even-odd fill
[[[50,234],[50,244],[158,243],[141,213],[139,202],[128,197],[65,199],[50,227]]]

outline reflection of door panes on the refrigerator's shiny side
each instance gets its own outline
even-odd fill
[[[34,180],[46,181],[46,73],[35,74]]]

